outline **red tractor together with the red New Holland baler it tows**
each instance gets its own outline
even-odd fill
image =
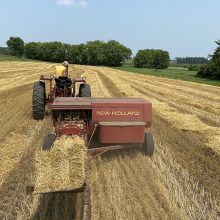
[[[85,79],[41,76],[33,88],[33,118],[43,119],[45,105],[51,103],[55,134],[45,137],[43,149],[52,147],[56,137],[82,136],[88,151],[100,155],[109,150],[139,147],[152,156],[152,104],[140,98],[92,98]],[[49,81],[46,95],[44,81]],[[79,91],[76,84],[80,83]]]

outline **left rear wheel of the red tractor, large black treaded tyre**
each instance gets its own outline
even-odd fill
[[[44,119],[45,98],[45,83],[41,81],[35,82],[32,99],[32,115],[35,120]]]

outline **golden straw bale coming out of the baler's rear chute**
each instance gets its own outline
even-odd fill
[[[36,192],[72,190],[85,179],[86,148],[82,138],[62,136],[49,151],[36,154]]]

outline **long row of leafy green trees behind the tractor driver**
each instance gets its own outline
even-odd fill
[[[71,45],[62,42],[30,42],[24,44],[19,37],[7,41],[12,55],[26,58],[62,62],[68,60],[73,64],[121,66],[132,55],[130,48],[118,41],[90,41],[85,44]]]

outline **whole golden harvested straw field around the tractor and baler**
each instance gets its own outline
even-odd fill
[[[32,85],[55,64],[0,62],[0,219],[80,219],[82,194],[26,196],[34,157],[52,129],[31,119]],[[220,88],[104,67],[71,66],[94,97],[153,103],[153,158],[106,153],[88,164],[92,219],[220,218]]]

